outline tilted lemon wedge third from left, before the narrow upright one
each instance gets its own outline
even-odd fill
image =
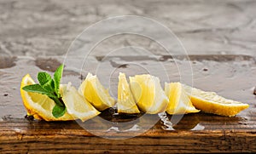
[[[96,76],[88,73],[84,82],[79,87],[79,93],[84,96],[98,111],[103,111],[114,106],[114,100],[108,90],[102,86]]]

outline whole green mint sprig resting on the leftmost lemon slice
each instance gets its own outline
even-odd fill
[[[23,87],[22,89],[27,92],[45,94],[51,100],[55,101],[55,107],[52,110],[52,115],[56,118],[62,117],[67,111],[66,106],[61,99],[59,92],[61,77],[63,72],[63,65],[59,66],[54,74],[54,79],[47,72],[38,72],[39,84],[32,84]]]

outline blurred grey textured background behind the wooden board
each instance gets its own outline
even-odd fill
[[[86,27],[116,15],[142,15],[160,21],[182,41],[189,54],[256,54],[255,0],[0,0],[0,54],[66,54]],[[148,47],[136,37],[118,37],[110,46]],[[112,47],[112,48],[113,48]]]

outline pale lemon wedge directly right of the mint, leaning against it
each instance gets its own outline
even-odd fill
[[[79,118],[84,122],[100,114],[99,111],[96,111],[96,109],[79,94],[76,88],[71,86],[71,83],[68,85],[61,85],[60,93],[62,100],[67,107],[67,112],[73,117]]]

